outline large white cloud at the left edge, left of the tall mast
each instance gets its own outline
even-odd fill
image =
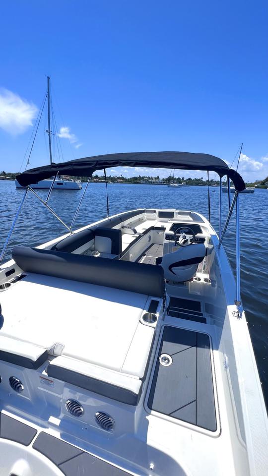
[[[22,134],[33,125],[37,107],[17,94],[0,89],[0,127],[10,134]]]

